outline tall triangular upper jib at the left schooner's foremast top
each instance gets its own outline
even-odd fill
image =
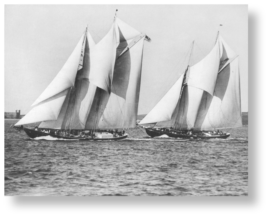
[[[74,51],[71,53],[67,62],[64,64],[53,81],[31,106],[36,105],[74,85],[78,64],[81,57],[84,36],[85,34],[82,35]]]

